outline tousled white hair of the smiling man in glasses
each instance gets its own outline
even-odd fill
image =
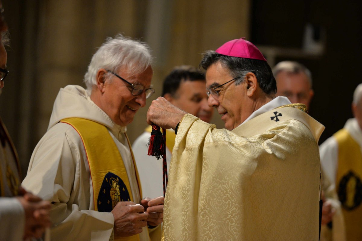
[[[114,38],[106,38],[93,55],[83,81],[90,94],[93,86],[97,84],[97,72],[102,68],[113,72],[122,68],[127,71],[127,74],[135,75],[142,73],[151,64],[151,48],[148,44],[118,34]]]

